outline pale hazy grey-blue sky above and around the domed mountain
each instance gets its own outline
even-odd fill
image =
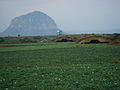
[[[0,32],[14,17],[36,10],[67,33],[120,33],[120,0],[0,0]]]

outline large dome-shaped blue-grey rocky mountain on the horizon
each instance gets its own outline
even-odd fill
[[[14,18],[0,36],[45,36],[57,35],[59,28],[48,15],[34,11]]]

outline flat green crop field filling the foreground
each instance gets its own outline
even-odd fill
[[[0,90],[120,90],[120,46],[0,44]]]

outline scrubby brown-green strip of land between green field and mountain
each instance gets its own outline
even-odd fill
[[[19,37],[1,37],[1,43],[26,43],[26,42],[76,42],[89,41],[93,37],[102,38],[110,41],[110,45],[120,45],[120,34],[77,34],[60,36],[19,36]],[[99,40],[100,41],[100,40]]]

